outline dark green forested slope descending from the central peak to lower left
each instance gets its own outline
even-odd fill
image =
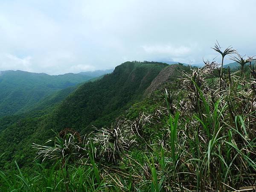
[[[70,95],[60,104],[53,105],[54,109],[49,113],[31,113],[15,122],[6,119],[8,126],[1,125],[0,132],[0,151],[5,152],[0,165],[12,166],[7,162],[14,160],[19,166],[31,163],[35,154],[32,143],[43,143],[52,137],[52,130],[72,128],[85,134],[94,130],[92,125],[99,128],[111,126],[131,105],[143,99],[147,87],[167,66],[158,62],[125,62],[102,79],[84,83],[74,92],[70,91]],[[52,105],[55,103],[52,99],[56,98],[58,96],[52,96],[41,104]]]

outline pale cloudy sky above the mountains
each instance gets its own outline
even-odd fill
[[[198,64],[218,56],[216,40],[252,56],[255,10],[255,0],[0,0],[0,71],[57,75],[135,60]]]

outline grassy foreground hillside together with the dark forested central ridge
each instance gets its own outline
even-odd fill
[[[236,53],[223,54],[218,44],[213,49],[223,58]],[[200,69],[121,64],[81,85],[52,113],[0,133],[1,188],[255,190],[256,70],[244,68],[251,59],[242,58],[233,73],[209,61]]]

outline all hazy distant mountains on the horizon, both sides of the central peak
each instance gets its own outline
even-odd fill
[[[145,61],[144,63],[157,62]],[[172,65],[180,62],[161,61],[161,63]],[[254,65],[254,62],[252,64]],[[203,65],[192,64],[196,67]],[[240,64],[233,62],[225,64],[224,67],[237,68]],[[20,70],[0,71],[0,116],[26,113],[32,109],[40,110],[46,105],[53,106],[76,90],[79,84],[96,81],[112,72],[113,69],[109,69],[50,76],[46,73],[30,73]]]

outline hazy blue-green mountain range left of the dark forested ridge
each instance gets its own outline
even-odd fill
[[[0,116],[19,114],[57,90],[93,79],[92,76],[67,73],[50,76],[45,73],[2,71],[0,73]]]

